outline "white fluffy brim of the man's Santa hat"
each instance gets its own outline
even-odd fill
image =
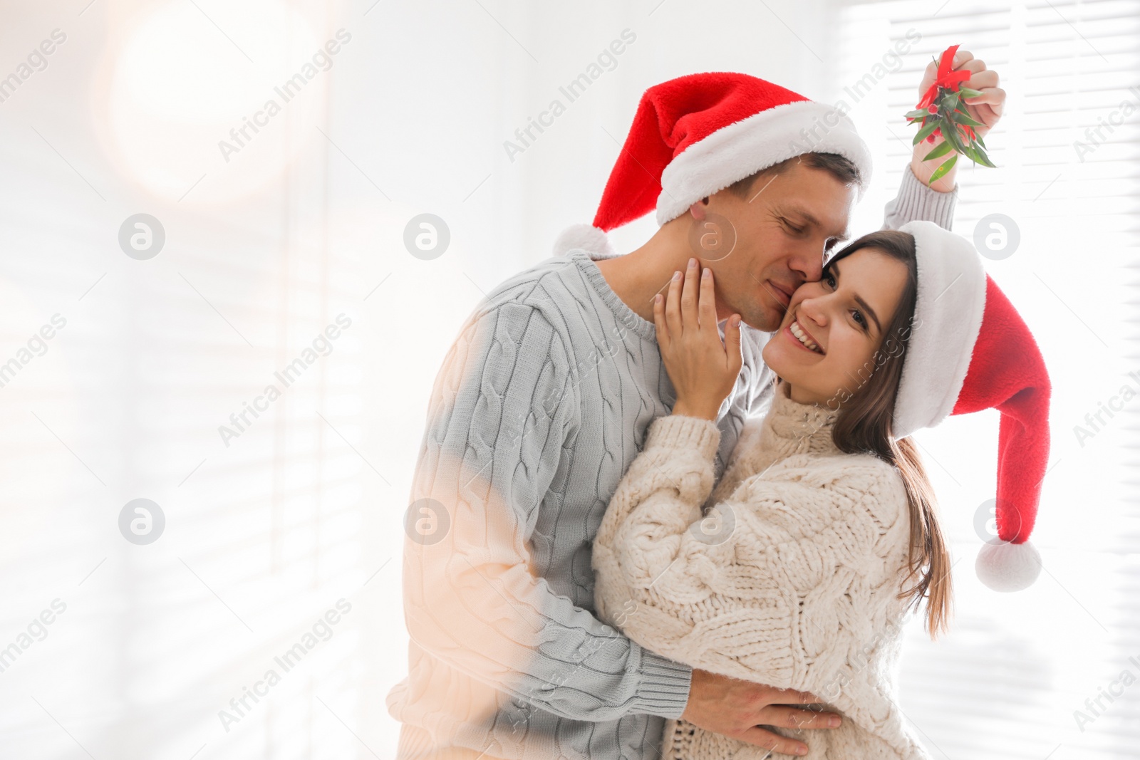
[[[814,131],[813,131],[814,130]],[[871,181],[871,152],[845,112],[800,100],[722,126],[676,156],[661,172],[657,223],[683,214],[701,198],[736,180],[805,153],[838,153],[858,166],[863,189]]]

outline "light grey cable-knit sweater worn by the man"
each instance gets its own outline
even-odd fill
[[[886,227],[950,228],[956,194],[904,172]],[[771,398],[767,334],[742,329],[715,473]],[[584,251],[507,280],[437,378],[404,553],[408,677],[398,758],[654,760],[691,669],[594,614],[592,545],[650,423],[675,400],[654,328]]]

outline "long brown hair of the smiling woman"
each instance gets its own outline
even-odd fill
[[[910,599],[910,607],[927,600],[926,628],[930,638],[948,628],[951,611],[950,553],[938,522],[934,489],[927,477],[918,446],[909,436],[891,436],[895,397],[903,376],[903,360],[914,318],[918,300],[918,264],[914,237],[896,230],[880,230],[864,235],[836,254],[824,272],[834,262],[862,248],[876,248],[906,264],[909,277],[895,316],[883,330],[883,341],[872,359],[873,366],[860,373],[860,387],[841,400],[831,438],[846,453],[873,453],[890,463],[903,477],[911,514],[911,541],[907,553],[907,575],[914,585],[898,594]],[[871,365],[872,362],[869,362]]]

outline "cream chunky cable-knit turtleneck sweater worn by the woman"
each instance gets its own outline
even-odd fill
[[[929,760],[895,702],[911,614],[895,598],[906,493],[893,466],[839,451],[833,423],[781,385],[767,417],[746,424],[710,499],[716,425],[657,419],[594,544],[598,616],[693,668],[824,700],[839,728],[772,729],[806,742],[808,759]],[[666,724],[662,754],[771,757],[683,720]]]

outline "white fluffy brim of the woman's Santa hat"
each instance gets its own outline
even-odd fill
[[[895,398],[896,439],[953,410],[986,308],[986,272],[969,240],[927,221],[899,229],[914,236],[919,293]]]

